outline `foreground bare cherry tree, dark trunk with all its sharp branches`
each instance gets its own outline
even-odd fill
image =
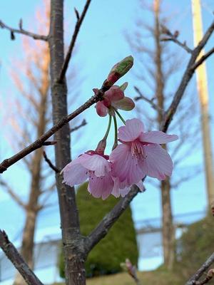
[[[86,1],[86,6],[83,9],[83,13],[86,14],[88,6],[91,1]],[[78,28],[80,27],[79,21],[83,20],[83,15],[77,16]],[[1,23],[1,27],[2,27]],[[6,28],[6,25],[3,25]],[[9,28],[11,33],[21,33],[22,30],[15,30],[14,28]],[[208,51],[203,58],[199,58],[201,49],[205,46],[210,35],[213,33],[214,23],[210,25],[208,31],[206,31],[203,36],[202,41],[193,50],[188,66],[185,68],[185,72],[180,81],[178,89],[175,91],[173,100],[171,101],[168,109],[165,111],[165,116],[163,120],[163,125],[161,130],[166,132],[170,125],[173,115],[178,108],[183,93],[186,86],[188,85],[190,79],[193,77],[195,69],[203,63],[203,61],[212,54]],[[32,36],[32,33],[24,31],[28,36]],[[78,32],[77,32],[78,33]],[[68,128],[68,122],[76,118],[79,114],[83,113],[84,110],[91,107],[98,100],[103,100],[103,94],[111,88],[112,84],[108,81],[104,81],[100,89],[96,91],[86,103],[81,105],[78,109],[74,110],[73,113],[67,115],[67,104],[66,104],[66,79],[64,75],[66,74],[66,69],[63,66],[68,66],[70,56],[63,58],[63,1],[52,0],[51,1],[51,27],[48,36],[40,36],[33,34],[34,38],[49,41],[49,47],[51,51],[51,95],[53,102],[53,119],[54,126],[47,130],[46,133],[41,135],[40,138],[32,142],[30,145],[25,147],[20,152],[16,153],[12,157],[7,158],[0,164],[0,172],[3,173],[8,167],[18,162],[22,158],[29,155],[31,152],[42,147],[42,145],[47,144],[51,135],[55,135],[57,139],[56,144],[56,167],[61,170],[70,160],[70,130]],[[72,41],[71,41],[72,43]],[[214,52],[214,51],[213,51]],[[69,51],[71,54],[71,51]],[[65,62],[67,61],[66,65]],[[127,72],[127,69],[126,69]],[[63,75],[63,76],[62,76]],[[84,261],[86,260],[88,252],[103,238],[108,234],[108,230],[111,229],[114,222],[120,217],[123,211],[128,207],[133,197],[138,194],[138,187],[133,185],[131,192],[126,195],[126,197],[120,199],[118,204],[109,212],[106,217],[104,217],[98,226],[93,229],[88,237],[83,237],[79,231],[78,222],[78,210],[76,208],[75,192],[72,191],[71,187],[67,187],[62,184],[61,175],[56,173],[56,185],[58,188],[58,199],[61,214],[61,229],[63,237],[63,252],[66,259],[66,284],[83,285],[86,284],[86,276],[84,269]],[[40,284],[41,281],[36,278],[34,272],[26,266],[24,260],[16,252],[13,244],[9,241],[6,233],[0,231],[0,247],[4,250],[5,254],[14,263],[16,269],[19,270],[21,275],[24,277],[28,284]]]

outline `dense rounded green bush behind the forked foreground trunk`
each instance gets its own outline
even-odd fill
[[[118,202],[115,197],[108,197],[104,201],[93,198],[86,190],[87,186],[87,183],[81,185],[76,195],[83,235],[89,234]],[[88,255],[86,275],[98,276],[121,271],[120,263],[126,258],[130,259],[133,264],[137,264],[138,249],[130,208],[126,209],[107,236],[101,239]],[[63,267],[61,257],[59,262],[61,276],[64,276]]]

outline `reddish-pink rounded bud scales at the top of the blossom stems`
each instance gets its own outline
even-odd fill
[[[127,86],[127,84],[126,84]],[[97,89],[93,89],[96,93]],[[96,103],[96,113],[99,116],[105,117],[108,114],[108,110],[111,108],[121,110],[132,110],[135,106],[131,98],[125,97],[122,88],[119,86],[112,86],[108,91],[105,92],[102,101]]]

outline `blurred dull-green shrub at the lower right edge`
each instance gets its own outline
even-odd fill
[[[195,222],[188,227],[188,231],[178,241],[178,264],[175,269],[189,279],[213,252],[214,218]]]

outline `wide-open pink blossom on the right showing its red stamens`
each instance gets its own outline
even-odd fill
[[[118,139],[122,142],[110,155],[112,172],[125,185],[133,185],[146,175],[164,180],[173,170],[173,162],[160,144],[177,140],[177,135],[161,131],[144,132],[141,120],[126,120],[119,128]]]

